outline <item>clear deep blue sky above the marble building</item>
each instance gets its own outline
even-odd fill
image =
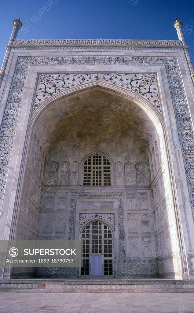
[[[0,11],[1,64],[12,21],[19,16],[27,26],[18,33],[18,39],[167,40],[177,39],[173,28],[177,17],[183,21],[186,43],[194,63],[193,0],[7,0],[1,1]]]

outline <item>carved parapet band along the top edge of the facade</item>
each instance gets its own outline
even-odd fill
[[[179,40],[120,40],[120,39],[16,39],[13,41],[14,46],[119,46],[119,47],[138,47],[149,46],[151,47],[180,47],[182,42]]]

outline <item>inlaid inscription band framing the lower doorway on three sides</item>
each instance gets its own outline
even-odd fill
[[[76,199],[77,198],[110,198],[118,201],[119,218],[119,254],[120,258],[125,258],[125,232],[124,232],[124,208],[122,193],[71,193],[70,214],[69,214],[69,240],[75,240],[75,218],[76,218]]]

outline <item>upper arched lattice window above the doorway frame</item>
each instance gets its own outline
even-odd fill
[[[84,186],[110,186],[110,161],[101,154],[89,156],[84,162]]]

